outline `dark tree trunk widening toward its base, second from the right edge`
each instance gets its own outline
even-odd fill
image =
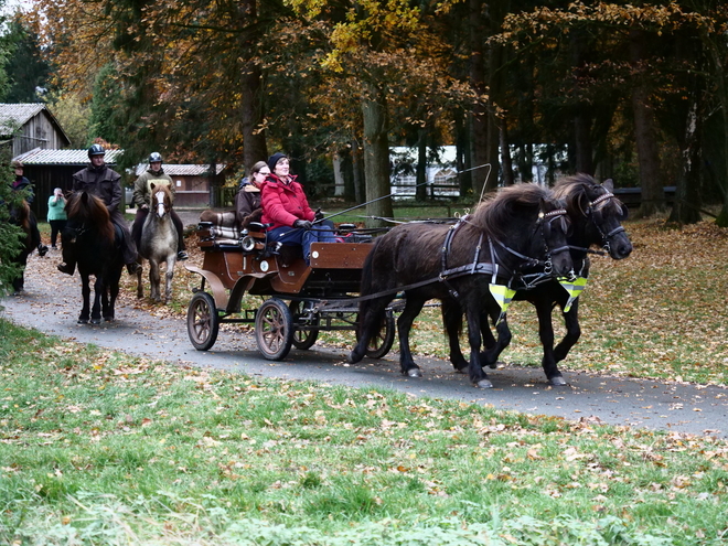
[[[690,97],[682,146],[683,171],[677,179],[675,203],[667,222],[679,225],[700,222],[700,142],[698,97]]]

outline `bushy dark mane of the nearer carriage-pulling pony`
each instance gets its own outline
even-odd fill
[[[483,228],[496,238],[505,237],[513,228],[513,220],[538,214],[542,200],[554,200],[547,188],[521,183],[492,193],[478,205],[471,215],[471,223]],[[535,218],[534,218],[535,220]]]

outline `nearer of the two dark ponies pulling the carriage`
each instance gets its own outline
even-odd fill
[[[362,270],[360,341],[350,355],[358,362],[383,323],[388,303],[405,291],[397,320],[402,373],[421,376],[409,351],[409,330],[424,303],[454,298],[465,311],[471,346],[470,379],[492,387],[481,365],[481,320],[493,300],[489,286],[507,285],[526,265],[544,264],[554,275],[571,271],[566,246],[568,221],[550,190],[535,184],[506,188],[457,225],[409,223],[378,237]],[[494,300],[493,300],[494,301]],[[497,319],[493,312],[493,319]]]

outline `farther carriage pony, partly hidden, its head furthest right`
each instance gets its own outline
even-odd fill
[[[588,253],[593,246],[603,247],[613,259],[627,258],[632,251],[632,243],[622,227],[627,217],[627,207],[612,194],[611,180],[599,184],[588,174],[577,174],[561,179],[554,186],[554,194],[560,199],[571,221],[572,231],[568,237],[574,269],[578,277],[589,276]],[[521,289],[514,300],[529,301],[536,307],[538,334],[544,347],[542,366],[548,382],[555,386],[566,385],[558,363],[566,358],[570,349],[581,335],[579,326],[579,300],[571,302],[567,312],[569,293],[550,276],[544,275],[540,267],[526,269],[520,279]],[[554,347],[554,326],[552,311],[561,309],[566,325],[566,335]],[[450,340],[450,361],[457,370],[467,365],[459,343],[462,328],[462,310],[453,299],[442,302],[442,318]],[[499,338],[495,340],[490,329],[483,329],[483,342],[489,347],[488,365],[494,365],[497,355],[511,343],[511,331],[504,319],[499,324]]]

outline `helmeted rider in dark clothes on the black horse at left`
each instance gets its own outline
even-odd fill
[[[121,229],[124,263],[127,265],[129,275],[137,272],[137,245],[135,245],[129,225],[121,211],[121,175],[104,162],[104,147],[92,144],[88,149],[88,159],[90,164],[73,175],[74,192],[85,191],[99,197],[106,204],[109,216],[115,226]],[[66,245],[63,246],[63,264],[58,264],[58,271],[73,275],[76,269],[76,260],[72,250]]]

